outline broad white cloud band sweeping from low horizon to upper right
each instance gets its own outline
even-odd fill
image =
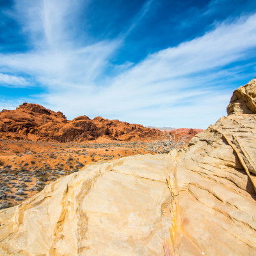
[[[255,46],[253,15],[233,24],[220,24],[200,38],[156,52],[113,77],[108,86],[44,97],[68,116],[74,116],[75,109],[79,109],[80,114],[147,125],[205,128],[225,115],[234,86],[243,85],[234,82],[238,67],[220,68],[246,60],[246,52]],[[244,66],[239,68],[243,70]],[[63,99],[70,104],[68,108]]]

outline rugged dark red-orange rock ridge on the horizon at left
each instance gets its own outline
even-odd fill
[[[32,141],[86,141],[99,137],[111,140],[147,140],[157,138],[161,131],[143,125],[78,116],[68,121],[63,113],[45,109],[38,104],[24,103],[16,110],[0,112],[0,136],[5,139]]]

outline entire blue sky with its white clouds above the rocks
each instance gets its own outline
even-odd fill
[[[205,129],[256,76],[253,0],[1,0],[0,109]]]

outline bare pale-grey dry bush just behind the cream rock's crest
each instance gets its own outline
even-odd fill
[[[149,151],[164,154],[169,153],[173,149],[180,149],[186,145],[187,136],[176,138],[168,132],[164,132],[159,140],[152,141],[147,144]]]

